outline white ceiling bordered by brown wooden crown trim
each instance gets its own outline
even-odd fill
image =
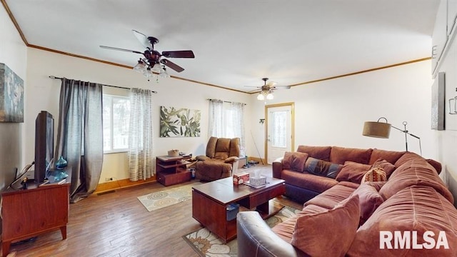
[[[158,51],[194,51],[170,59],[185,69],[172,76],[239,91],[263,77],[294,85],[426,58],[439,2],[2,1],[29,45],[134,66],[139,54],[99,46],[144,51],[135,29],[158,38]]]

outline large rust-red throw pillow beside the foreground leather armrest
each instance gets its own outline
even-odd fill
[[[291,244],[309,256],[344,256],[356,237],[358,195],[321,213],[298,216]]]

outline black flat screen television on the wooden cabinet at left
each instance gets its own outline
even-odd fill
[[[41,183],[54,160],[54,119],[41,111],[35,120],[35,182]]]

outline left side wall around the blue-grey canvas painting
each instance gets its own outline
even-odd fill
[[[3,7],[0,7],[0,63],[6,64],[27,84],[26,46]],[[26,103],[28,92],[24,94]],[[21,148],[25,146],[22,141],[23,128],[24,124],[21,123],[0,123],[0,191],[14,180],[16,168],[19,171],[24,168],[21,155]]]

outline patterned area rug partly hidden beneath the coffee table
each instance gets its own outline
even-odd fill
[[[286,221],[286,219],[298,213],[300,210],[289,206],[284,207],[275,216],[266,219],[266,223],[270,228],[276,224]],[[238,256],[238,243],[236,238],[228,243],[224,243],[218,236],[211,233],[206,228],[200,228],[197,231],[183,236],[184,240],[189,243],[199,256]]]

